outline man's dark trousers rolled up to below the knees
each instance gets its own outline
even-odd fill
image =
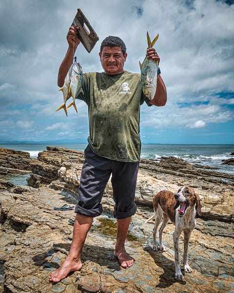
[[[90,146],[84,150],[84,157],[75,212],[90,217],[102,213],[102,195],[112,174],[114,217],[125,219],[134,215],[137,211],[135,192],[139,162],[109,160],[96,155]]]

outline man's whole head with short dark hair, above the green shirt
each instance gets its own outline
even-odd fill
[[[117,75],[122,73],[127,53],[124,42],[114,36],[105,38],[100,47],[100,61],[106,74]]]

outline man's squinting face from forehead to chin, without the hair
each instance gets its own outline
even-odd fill
[[[123,55],[120,47],[104,47],[99,53],[102,68],[106,74],[117,75],[122,73],[127,53]]]

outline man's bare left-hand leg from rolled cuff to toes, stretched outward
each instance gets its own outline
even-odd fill
[[[71,249],[67,258],[58,270],[52,272],[50,281],[57,283],[64,279],[70,272],[79,271],[82,267],[80,260],[81,251],[87,236],[88,231],[92,226],[93,218],[77,214],[74,229]]]

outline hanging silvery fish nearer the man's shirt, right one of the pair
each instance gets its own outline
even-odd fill
[[[72,73],[70,78],[70,88],[69,91],[71,92],[71,96],[73,98],[72,103],[67,106],[67,109],[70,108],[72,105],[74,106],[77,112],[77,106],[75,104],[75,99],[79,92],[81,91],[81,83],[82,83],[82,67],[79,63],[77,63],[77,57],[74,58],[74,63],[72,67]],[[77,112],[78,113],[78,112]]]

